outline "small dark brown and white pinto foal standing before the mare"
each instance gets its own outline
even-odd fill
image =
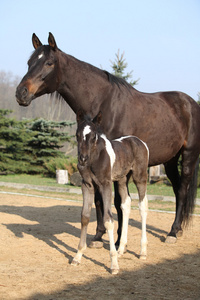
[[[83,208],[81,213],[81,237],[72,264],[78,265],[81,262],[83,251],[86,249],[87,226],[95,190],[98,189],[103,199],[104,225],[110,242],[111,273],[117,274],[119,271],[118,256],[123,255],[127,244],[131,208],[128,180],[131,176],[138,190],[139,209],[142,218],[140,258],[146,259],[146,217],[148,210],[146,188],[149,151],[147,145],[134,136],[124,136],[109,141],[100,130],[101,112],[94,120],[79,112],[77,123],[78,169],[83,179]],[[118,253],[114,243],[114,223],[111,212],[113,181],[118,181],[119,184],[123,213],[122,235]]]

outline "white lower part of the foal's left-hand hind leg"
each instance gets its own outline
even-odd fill
[[[124,203],[121,204],[122,214],[123,214],[123,223],[122,223],[122,234],[120,239],[120,245],[118,249],[118,256],[122,256],[124,254],[126,245],[127,245],[127,237],[128,237],[128,221],[131,210],[131,198],[128,196]]]

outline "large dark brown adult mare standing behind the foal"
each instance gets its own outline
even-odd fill
[[[149,166],[163,163],[176,196],[176,216],[167,242],[175,242],[181,225],[193,211],[197,174],[195,166],[200,153],[200,107],[181,92],[141,93],[122,79],[79,61],[58,49],[53,35],[48,45],[32,36],[34,53],[28,61],[28,72],[17,87],[20,105],[28,106],[43,94],[57,92],[75,113],[82,109],[92,118],[102,111],[102,130],[109,139],[135,135],[149,148]],[[182,156],[181,174],[178,160]],[[115,186],[118,213],[118,241],[121,236],[121,199]],[[97,232],[101,241],[105,232],[103,206],[95,195]]]

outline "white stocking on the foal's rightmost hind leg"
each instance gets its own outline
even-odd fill
[[[145,195],[144,199],[139,202],[139,209],[142,218],[142,238],[141,238],[141,252],[140,258],[146,259],[147,256],[147,234],[146,234],[146,220],[148,212],[148,199]]]

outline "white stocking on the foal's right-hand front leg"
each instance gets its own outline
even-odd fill
[[[111,259],[111,273],[118,274],[119,265],[117,259],[117,250],[115,248],[114,242],[114,223],[113,222],[105,222],[105,228],[107,229],[109,242],[110,242],[110,259]]]

